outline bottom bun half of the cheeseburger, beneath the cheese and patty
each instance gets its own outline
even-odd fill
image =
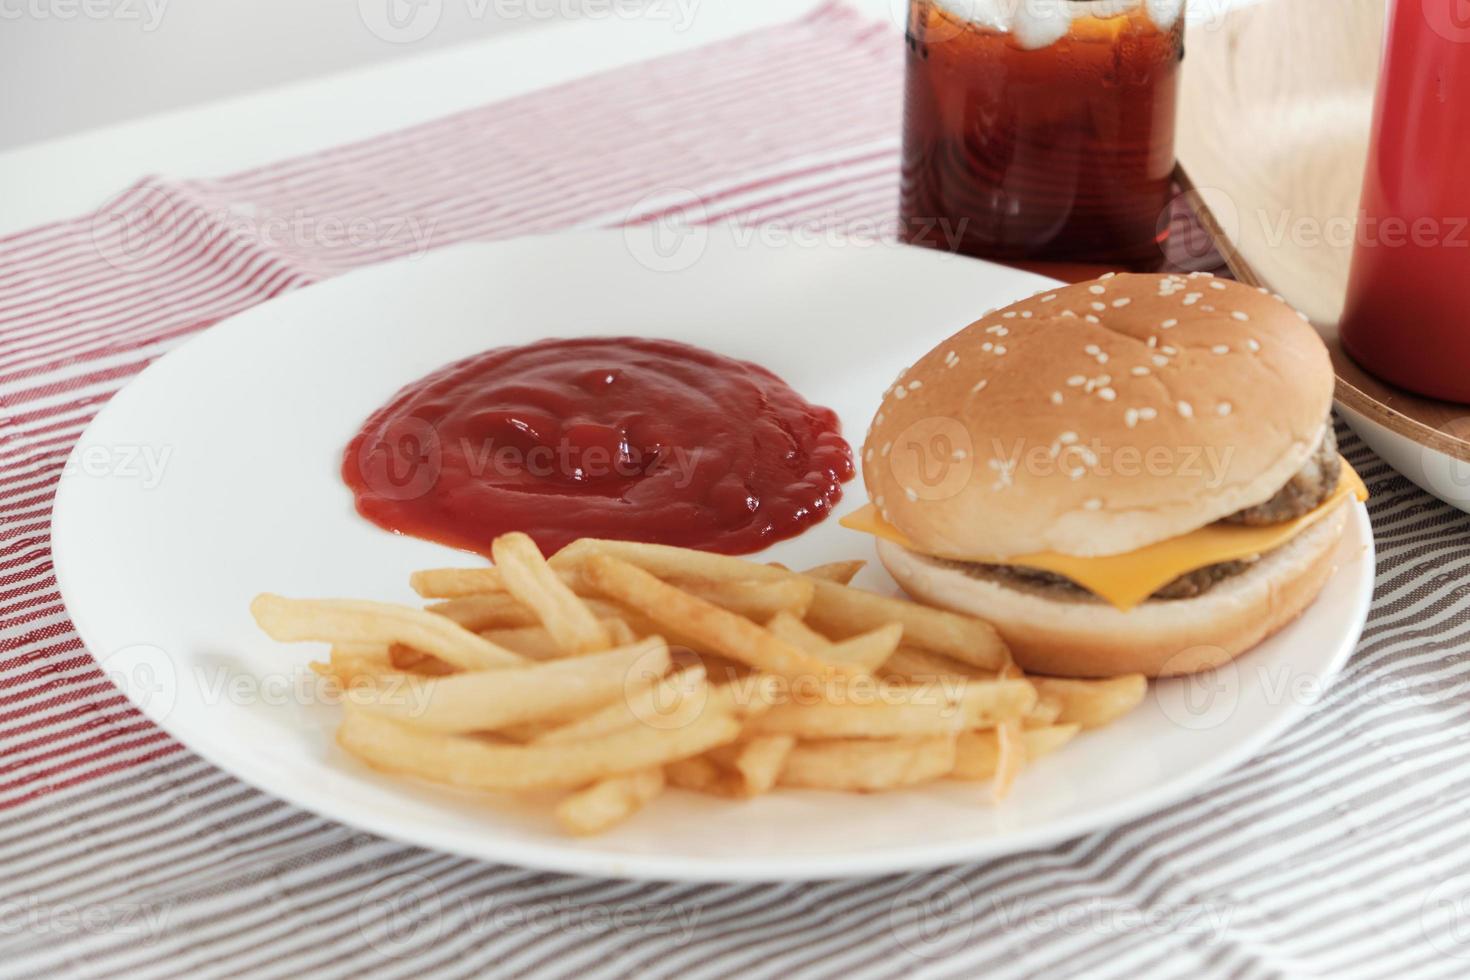
[[[1233,660],[1301,616],[1336,570],[1349,507],[1344,501],[1204,595],[1148,599],[1126,613],[1092,597],[975,577],[889,541],[878,542],[878,557],[916,599],[992,623],[1028,673],[1173,677]]]

